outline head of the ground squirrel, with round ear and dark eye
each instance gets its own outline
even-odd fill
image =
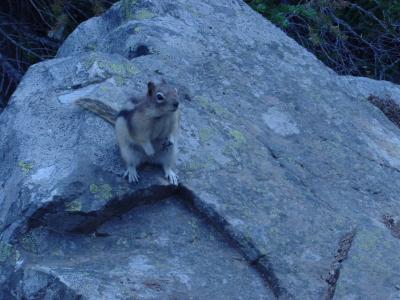
[[[147,84],[147,99],[160,115],[173,113],[179,108],[178,90],[166,83],[164,79],[160,84],[149,81]]]

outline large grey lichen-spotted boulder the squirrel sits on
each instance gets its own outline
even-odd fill
[[[120,107],[161,77],[182,95],[181,186],[157,168],[131,186],[112,127],[74,101]],[[371,93],[400,101],[242,1],[121,1],[0,116],[0,298],[398,299],[400,131]]]

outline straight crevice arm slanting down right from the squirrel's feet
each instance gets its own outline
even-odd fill
[[[248,237],[235,231],[223,216],[201,201],[198,196],[187,187],[180,185],[178,195],[182,197],[185,204],[188,205],[190,209],[204,217],[215,229],[227,238],[234,248],[240,251],[249,264],[260,273],[267,287],[272,290],[274,296],[285,299],[293,297],[282,287],[267,256],[261,253]]]

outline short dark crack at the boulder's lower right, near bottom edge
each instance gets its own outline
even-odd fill
[[[323,297],[324,300],[333,299],[336,290],[336,284],[340,277],[342,263],[347,259],[355,235],[356,231],[353,230],[347,233],[339,242],[339,247],[337,249],[335,259],[331,264],[328,276],[325,277],[325,282],[328,284],[328,286]]]

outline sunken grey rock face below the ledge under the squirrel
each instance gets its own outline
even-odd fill
[[[192,214],[167,199],[105,223],[97,236],[32,230],[25,272],[51,270],[84,299],[273,299],[240,253]],[[37,288],[26,277],[28,294]]]

